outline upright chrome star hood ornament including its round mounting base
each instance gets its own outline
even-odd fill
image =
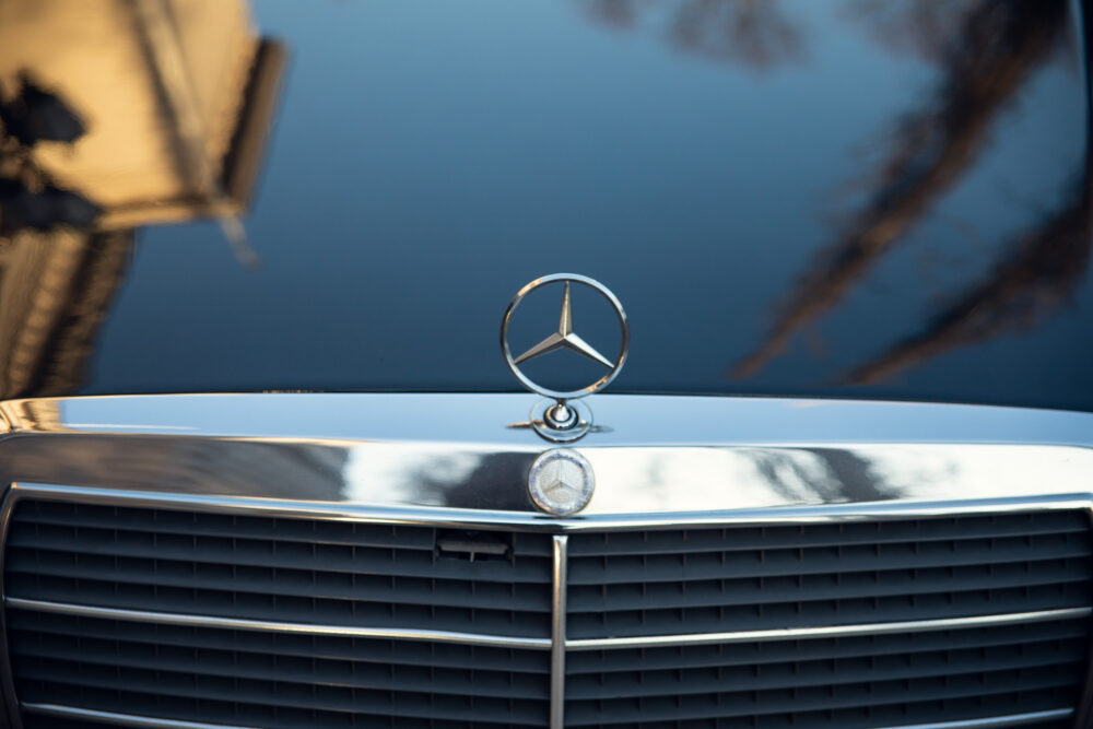
[[[517,307],[531,292],[556,282],[563,284],[562,310],[559,315],[557,330],[548,334],[542,341],[519,356],[514,356],[508,344],[508,328]],[[588,286],[596,291],[614,310],[622,331],[622,343],[614,358],[604,356],[599,350],[577,334],[573,324],[573,303],[571,298],[571,287],[573,284]],[[505,355],[508,368],[512,369],[513,375],[516,376],[516,379],[521,385],[532,392],[538,392],[553,400],[553,402],[546,401],[536,405],[531,412],[531,426],[537,433],[550,440],[565,443],[576,440],[591,428],[591,411],[586,405],[574,401],[599,392],[619,375],[619,372],[626,363],[626,354],[630,350],[630,325],[626,321],[626,313],[623,310],[622,304],[619,303],[615,295],[602,283],[577,273],[554,273],[536,279],[517,292],[501,321],[501,349]],[[576,390],[554,390],[539,385],[525,375],[519,367],[520,364],[529,360],[534,360],[548,352],[562,349],[576,352],[607,367],[607,372],[599,379],[586,387]]]

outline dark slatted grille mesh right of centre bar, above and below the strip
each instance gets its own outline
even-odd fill
[[[569,637],[1088,607],[1090,557],[1080,512],[578,534]],[[1088,620],[1059,620],[572,651],[566,724],[853,729],[1069,708],[1089,645]]]

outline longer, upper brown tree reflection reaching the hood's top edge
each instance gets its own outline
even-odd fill
[[[868,205],[801,281],[736,376],[757,372],[796,331],[837,304],[960,178],[995,116],[1051,49],[1066,11],[1065,0],[1009,0],[982,2],[967,14],[935,104],[906,120]]]

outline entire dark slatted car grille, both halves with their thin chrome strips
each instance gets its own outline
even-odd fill
[[[575,727],[1063,727],[1081,701],[1083,510],[563,539],[552,657],[548,534],[20,501],[24,726],[543,727],[563,666]]]

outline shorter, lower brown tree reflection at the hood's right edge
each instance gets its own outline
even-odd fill
[[[1090,261],[1088,198],[1082,189],[1062,210],[1026,233],[990,275],[904,339],[850,373],[850,384],[879,381],[952,348],[1031,324],[1055,307],[1081,280]]]

